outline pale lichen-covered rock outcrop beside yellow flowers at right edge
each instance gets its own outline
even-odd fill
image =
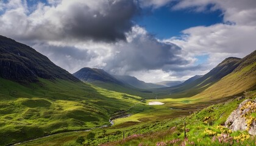
[[[256,121],[251,113],[256,112],[256,100],[246,99],[236,108],[225,122],[225,126],[232,131],[245,131],[256,135]]]

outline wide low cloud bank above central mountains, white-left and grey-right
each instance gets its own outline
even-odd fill
[[[179,71],[193,61],[183,58],[180,47],[155,39],[142,27],[133,26],[126,38],[127,41],[118,43],[50,41],[35,43],[33,47],[70,72],[86,66],[122,75],[155,69]]]

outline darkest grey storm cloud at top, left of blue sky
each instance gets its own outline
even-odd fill
[[[64,35],[96,41],[126,40],[131,19],[139,12],[134,1],[115,1],[104,5],[103,12],[87,5],[71,5],[63,17]]]

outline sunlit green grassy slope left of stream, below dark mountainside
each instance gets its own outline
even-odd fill
[[[65,80],[20,85],[0,78],[0,145],[108,125],[141,97]],[[130,113],[138,109],[130,109]]]

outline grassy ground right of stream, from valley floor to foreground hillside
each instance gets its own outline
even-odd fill
[[[255,91],[250,92],[247,95],[247,98],[249,97],[255,99]],[[162,99],[159,101],[165,105],[149,106],[148,102],[151,101],[154,100],[146,100],[146,104],[140,102],[133,106],[141,112],[116,119],[112,127],[55,134],[20,145],[79,145],[76,139],[80,136],[85,139],[83,145],[157,145],[158,143],[160,145],[160,142],[166,145],[171,145],[170,142],[180,145],[184,142],[184,120],[186,120],[188,128],[187,144],[191,142],[191,145],[209,145],[213,142],[215,145],[222,145],[218,141],[213,141],[213,137],[221,136],[223,130],[232,138],[244,136],[244,141],[238,139],[234,145],[255,144],[255,137],[249,136],[246,131],[232,133],[221,126],[243,100],[234,97],[208,102],[196,102],[197,100],[191,102],[188,99]],[[202,110],[199,111],[200,109]],[[211,118],[207,119],[207,117]],[[90,139],[89,133],[96,135]],[[124,140],[123,134],[126,137]]]

